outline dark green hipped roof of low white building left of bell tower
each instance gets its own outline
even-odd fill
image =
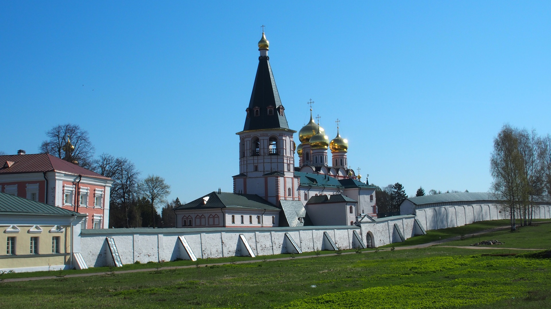
[[[207,198],[207,201],[205,201]],[[204,208],[256,208],[280,210],[272,203],[256,194],[237,194],[231,192],[210,192],[176,209],[204,209]]]

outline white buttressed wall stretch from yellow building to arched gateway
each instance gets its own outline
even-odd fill
[[[353,231],[361,232],[356,226],[299,227],[299,228],[167,228],[167,229],[96,229],[83,230],[80,245],[84,260],[90,267],[112,264],[111,252],[106,237],[115,240],[123,264],[136,261],[147,263],[187,259],[181,250],[178,236],[185,236],[197,258],[218,258],[245,256],[241,252],[239,236],[245,236],[255,255],[274,255],[294,252],[285,241],[285,233],[303,252],[333,250],[323,247],[323,232],[341,249],[352,249]]]

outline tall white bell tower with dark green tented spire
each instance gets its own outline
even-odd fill
[[[245,125],[239,135],[239,174],[234,193],[256,194],[278,205],[280,200],[300,200],[294,176],[295,142],[279,98],[268,57],[269,42],[262,32],[258,42],[258,68],[252,86]]]

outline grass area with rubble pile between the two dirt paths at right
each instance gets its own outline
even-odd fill
[[[484,240],[505,242],[505,245],[492,245],[491,247],[551,248],[551,223],[532,223],[526,227],[517,225],[514,232],[506,229],[474,237],[465,235],[464,240],[444,242],[442,245],[468,246]]]

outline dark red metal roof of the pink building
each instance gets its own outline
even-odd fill
[[[12,161],[10,167],[4,167],[6,161]],[[102,179],[111,179],[104,177],[91,170],[85,169],[67,162],[58,157],[54,157],[47,153],[36,154],[12,154],[10,156],[0,156],[0,175],[2,174],[17,174],[17,173],[42,173],[42,172],[64,172],[74,175],[90,176]]]

